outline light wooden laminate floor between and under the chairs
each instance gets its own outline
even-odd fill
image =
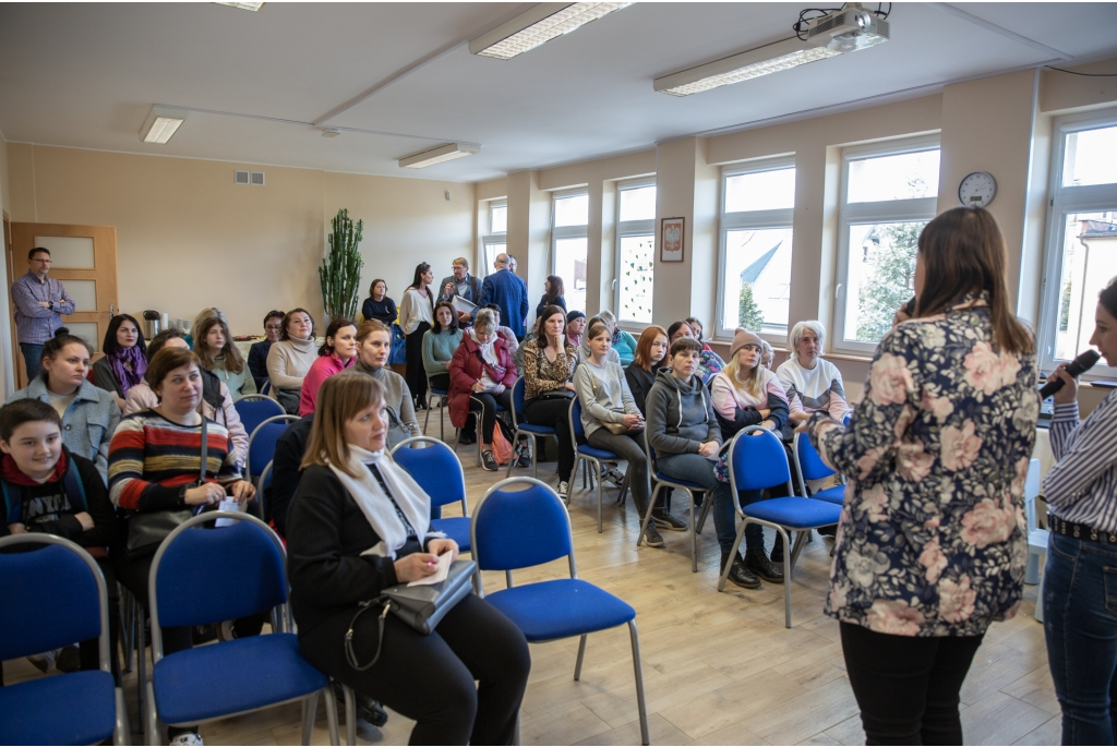
[[[430,433],[437,435],[436,410]],[[448,424],[449,425],[449,424]],[[448,427],[449,432],[452,429]],[[452,441],[452,437],[451,437]],[[470,500],[504,471],[474,466],[476,447],[459,448]],[[554,485],[555,465],[540,465]],[[531,475],[529,469],[514,475]],[[657,745],[860,745],[857,702],[846,677],[838,623],[822,614],[830,543],[815,537],[795,567],[794,628],[784,628],[783,587],[733,586],[717,593],[718,547],[713,520],[699,537],[698,573],[690,572],[684,533],[663,533],[665,548],[634,547],[637,514],[631,500],[618,507],[618,490],[604,490],[604,531],[596,531],[596,500],[572,496],[571,519],[579,575],[637,610],[652,744]],[[676,501],[676,514],[681,514]],[[456,511],[447,511],[452,515]],[[767,540],[771,547],[771,536]],[[566,575],[565,561],[518,572],[516,583]],[[485,586],[504,586],[487,573]],[[970,745],[1056,745],[1059,705],[1048,671],[1043,629],[1033,616],[1035,587],[1025,586],[1020,614],[994,624],[962,688],[962,724]],[[591,635],[582,679],[573,679],[577,640],[532,647],[532,674],[521,734],[526,745],[637,745],[640,728],[626,628]],[[7,662],[8,681],[37,674],[26,661]],[[125,696],[137,724],[136,677]],[[298,705],[202,727],[210,745],[299,744]],[[343,717],[344,718],[344,717]],[[344,721],[343,721],[344,722]],[[359,722],[363,744],[407,744],[413,721],[391,714],[382,729]],[[344,729],[342,731],[344,740]],[[135,744],[142,736],[134,735]],[[328,744],[322,706],[314,744]]]

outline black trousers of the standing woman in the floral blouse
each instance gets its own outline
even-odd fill
[[[910,638],[841,623],[865,744],[961,745],[958,691],[982,638]]]

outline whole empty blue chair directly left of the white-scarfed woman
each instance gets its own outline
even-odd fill
[[[232,526],[204,529],[216,518]],[[287,558],[266,524],[240,511],[210,511],[174,529],[149,575],[152,679],[147,744],[161,724],[187,726],[303,701],[303,744],[311,744],[318,693],[326,698],[330,744],[340,744],[330,678],[298,649],[287,604]],[[279,630],[163,655],[162,626],[204,625],[279,609]]]

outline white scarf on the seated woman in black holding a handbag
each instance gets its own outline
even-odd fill
[[[403,526],[403,521],[395,513],[392,499],[384,495],[380,482],[365,465],[375,465],[376,469],[380,470],[381,477],[384,478],[384,482],[392,491],[392,498],[395,498],[395,504],[418,534],[419,542],[427,537],[430,528],[430,497],[423,492],[423,489],[408,475],[407,470],[392,461],[392,458],[386,456],[384,451],[365,451],[352,443],[349,444],[349,467],[361,477],[351,477],[334,465],[330,465],[330,469],[353,496],[353,500],[361,507],[361,513],[381,537],[381,542],[366,549],[362,555],[381,555],[394,559],[395,550],[403,547],[408,540],[408,528]]]

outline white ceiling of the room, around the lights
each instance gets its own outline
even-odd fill
[[[0,4],[0,132],[9,142],[477,181],[1117,55],[1117,3],[896,3],[891,41],[879,47],[686,98],[652,90],[656,77],[789,37],[809,4],[641,2],[508,61],[471,56],[465,42],[527,4]],[[166,145],[139,138],[154,103],[191,109]],[[389,134],[325,138],[312,123]],[[483,149],[421,171],[395,163],[454,141]]]

